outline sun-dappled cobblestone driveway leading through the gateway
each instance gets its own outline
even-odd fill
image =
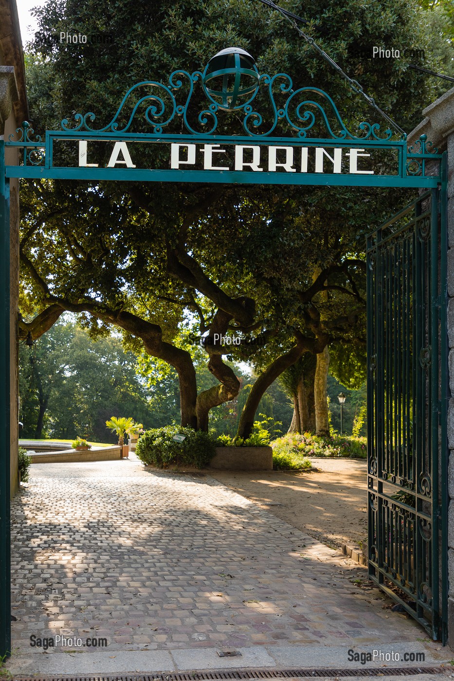
[[[361,567],[211,477],[36,464],[12,537],[16,652],[38,650],[33,634],[106,637],[109,651],[425,637],[352,584]]]

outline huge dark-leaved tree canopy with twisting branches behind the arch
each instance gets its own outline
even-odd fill
[[[432,97],[429,82],[407,70],[405,59],[361,63],[354,56],[375,44],[408,46],[409,35],[415,45],[425,44],[417,3],[283,5],[309,22],[307,31],[320,46],[399,125],[412,129],[419,122]],[[102,127],[132,84],[165,82],[179,67],[200,69],[232,45],[256,57],[261,73],[288,72],[295,86],[314,84],[335,95],[353,131],[363,120],[382,123],[288,22],[256,1],[163,1],[141,7],[139,16],[132,0],[118,0],[112,13],[99,0],[60,0],[36,13],[40,32],[29,58],[29,99],[37,131],[88,111]],[[108,33],[115,40],[65,45],[59,44],[61,31]],[[427,54],[430,60],[429,47]],[[265,104],[258,95],[258,105]],[[202,108],[199,94],[194,121]],[[143,116],[135,125],[147,129]],[[236,114],[222,115],[220,131],[241,133]],[[145,165],[147,151],[137,154]],[[106,325],[121,328],[129,343],[175,368],[181,422],[205,429],[209,411],[240,387],[214,334],[252,340],[230,350],[262,370],[243,409],[241,434],[252,427],[264,390],[302,353],[361,336],[364,235],[406,197],[404,191],[260,185],[22,186],[22,330],[36,338],[63,311],[87,315],[95,335]],[[197,344],[205,336],[216,379],[205,390],[198,390],[194,353],[181,343],[183,329],[198,336]]]

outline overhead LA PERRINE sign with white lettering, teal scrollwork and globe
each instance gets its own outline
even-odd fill
[[[224,135],[232,112],[238,133]],[[240,48],[222,50],[203,72],[140,82],[108,125],[96,128],[95,119],[78,113],[44,140],[24,123],[5,143],[20,148],[22,163],[7,165],[5,177],[426,188],[441,180],[440,163],[427,173],[441,157],[424,135],[408,150],[405,137],[378,123],[351,131],[327,93],[293,89],[287,74],[258,74]],[[132,132],[134,123],[147,131]],[[148,168],[135,162],[138,145],[148,145]]]

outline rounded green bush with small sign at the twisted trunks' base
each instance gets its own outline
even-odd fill
[[[181,443],[172,440],[177,434],[185,435]],[[136,455],[147,466],[168,468],[171,465],[187,465],[203,468],[215,454],[213,440],[202,430],[166,426],[147,430],[136,445]]]

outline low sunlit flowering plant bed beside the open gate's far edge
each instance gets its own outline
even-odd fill
[[[289,433],[273,441],[271,447],[277,454],[367,458],[367,439],[348,435],[321,437],[309,432],[302,435]]]

